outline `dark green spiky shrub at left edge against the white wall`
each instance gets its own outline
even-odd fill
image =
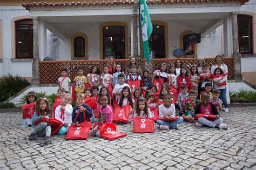
[[[30,85],[29,81],[20,76],[8,74],[0,79],[0,102],[9,99]]]

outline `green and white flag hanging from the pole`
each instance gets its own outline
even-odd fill
[[[149,10],[147,10],[147,4],[145,0],[140,0],[140,23],[142,23],[144,57],[147,59],[148,62],[150,62],[149,38],[151,36],[153,26],[151,23]]]

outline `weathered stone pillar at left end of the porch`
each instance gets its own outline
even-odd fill
[[[39,47],[38,47],[38,18],[33,19],[33,61],[32,84],[39,84]]]

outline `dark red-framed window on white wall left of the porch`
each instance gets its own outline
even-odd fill
[[[33,58],[33,21],[15,22],[16,58]]]

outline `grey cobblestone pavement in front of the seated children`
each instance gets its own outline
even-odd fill
[[[31,129],[21,128],[21,113],[0,113],[0,169],[256,169],[256,107],[232,107],[222,113],[228,130],[193,127],[134,134],[130,124],[118,125],[124,138],[108,141],[91,137],[69,140],[55,135],[28,140]]]

